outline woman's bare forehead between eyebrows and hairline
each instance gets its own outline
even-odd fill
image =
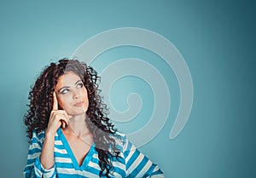
[[[55,88],[58,89],[63,86],[73,85],[79,80],[81,80],[81,78],[77,74],[75,74],[74,72],[67,72],[60,78],[58,78]]]

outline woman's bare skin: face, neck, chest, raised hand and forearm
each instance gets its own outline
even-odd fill
[[[41,163],[45,169],[50,169],[55,164],[55,133],[61,127],[78,164],[81,165],[93,142],[90,130],[84,122],[89,100],[81,78],[74,72],[62,75],[58,78],[53,99],[40,156]]]

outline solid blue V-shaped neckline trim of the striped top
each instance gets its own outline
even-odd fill
[[[66,139],[65,135],[63,134],[61,128],[58,129],[58,134],[60,135],[61,141],[63,142],[63,145],[67,150],[67,154],[69,155],[69,157],[72,160],[74,168],[79,169],[79,170],[86,169],[87,165],[90,162],[90,159],[92,158],[93,153],[95,152],[95,143],[92,143],[92,145],[90,146],[89,151],[85,155],[83,163],[81,164],[81,166],[79,166],[78,160],[75,158],[74,153],[73,153],[71,147],[69,146],[69,143],[67,142],[67,139]]]

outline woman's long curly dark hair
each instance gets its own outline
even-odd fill
[[[113,123],[107,117],[107,106],[103,104],[100,96],[101,90],[98,89],[100,78],[97,76],[97,72],[82,61],[63,58],[59,60],[59,63],[50,63],[38,77],[29,92],[30,103],[27,105],[29,109],[24,117],[27,137],[32,139],[33,130],[39,133],[47,129],[53,106],[55,85],[57,79],[66,72],[77,74],[87,89],[89,106],[86,114],[89,119],[85,119],[85,122],[96,144],[96,151],[100,159],[100,176],[109,177],[113,171],[113,158],[119,158],[116,141],[110,136],[114,135],[117,130],[113,128]]]

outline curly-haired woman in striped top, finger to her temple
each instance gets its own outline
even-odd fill
[[[44,69],[29,93],[25,177],[163,177],[113,128],[98,81],[79,60]]]

